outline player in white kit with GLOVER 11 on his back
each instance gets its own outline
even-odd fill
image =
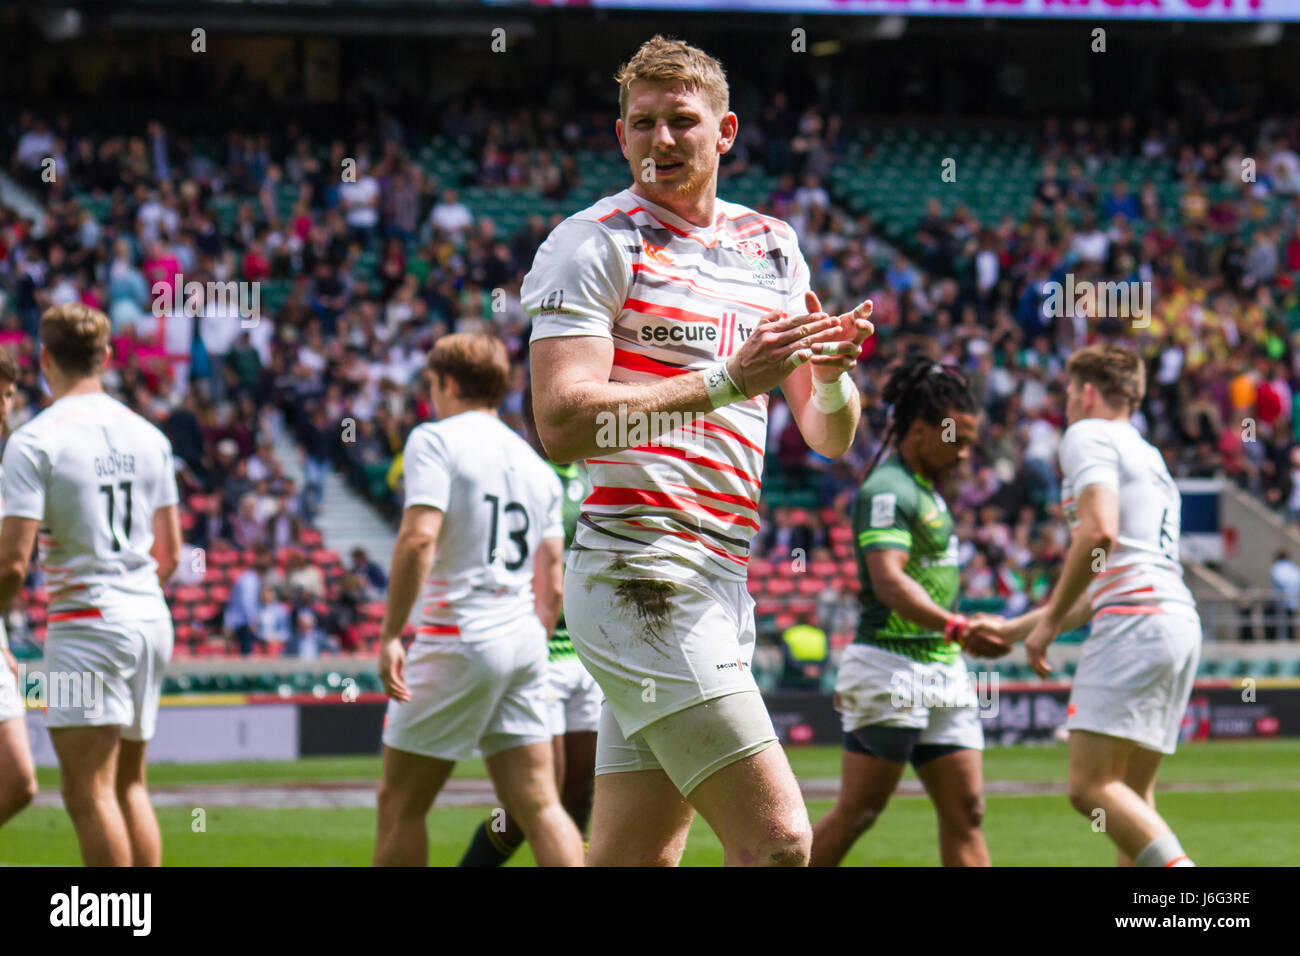
[[[108,336],[108,317],[81,303],[40,319],[40,371],[55,401],[5,445],[0,609],[39,533],[46,726],[82,860],[157,866],[144,754],[172,657],[162,581],[181,553],[178,494],[170,442],[100,386]]]

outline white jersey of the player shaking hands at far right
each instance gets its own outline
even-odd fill
[[[1105,571],[1088,587],[1092,613],[1195,610],[1178,557],[1182,496],[1160,451],[1127,421],[1083,419],[1066,429],[1060,454],[1071,531],[1084,488],[1101,484],[1119,498],[1119,533]]]

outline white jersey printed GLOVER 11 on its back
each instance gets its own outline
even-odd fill
[[[168,617],[150,551],[178,499],[172,442],[104,393],[60,398],[5,445],[4,514],[40,522],[52,624]]]

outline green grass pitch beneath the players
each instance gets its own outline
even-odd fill
[[[800,778],[838,775],[833,747],[792,748]],[[984,832],[998,866],[1109,866],[1114,849],[1104,834],[1076,814],[1063,795],[1063,747],[992,748],[985,753],[989,782],[1046,782],[1053,795],[991,795]],[[311,758],[289,763],[159,765],[157,787],[211,784],[311,786],[328,782],[373,784],[377,757]],[[482,778],[467,762],[456,778]],[[907,771],[907,778],[914,778]],[[42,790],[58,788],[57,771],[39,773]],[[1188,791],[1158,793],[1157,805],[1200,865],[1296,866],[1300,844],[1300,740],[1209,743],[1183,747],[1165,760],[1161,784]],[[254,799],[250,799],[254,803]],[[814,822],[831,804],[809,803]],[[438,806],[429,814],[429,862],[455,865],[482,806]],[[194,808],[162,806],[164,860],[172,866],[365,866],[374,848],[373,808],[213,806],[195,831]],[[716,866],[722,847],[697,819],[682,865]],[[29,808],[0,829],[0,864],[77,865],[77,840],[66,814],[53,806]],[[935,814],[928,800],[896,796],[880,822],[863,836],[845,865],[933,866],[939,864]],[[528,847],[511,866],[530,866]]]

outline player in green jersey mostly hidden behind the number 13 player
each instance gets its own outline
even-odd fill
[[[541,454],[541,445],[533,432],[532,402],[524,390],[524,418],[529,427],[533,447]],[[564,551],[568,553],[577,531],[582,499],[592,493],[586,468],[550,463],[564,486]],[[549,641],[547,676],[551,684],[551,734],[555,747],[555,777],[560,788],[560,803],[573,818],[578,831],[586,832],[592,816],[592,792],[595,779],[595,730],[601,722],[601,688],[577,659],[573,641],[564,624],[564,611]],[[504,809],[478,825],[469,848],[460,860],[462,866],[500,866],[524,843],[524,831]]]

